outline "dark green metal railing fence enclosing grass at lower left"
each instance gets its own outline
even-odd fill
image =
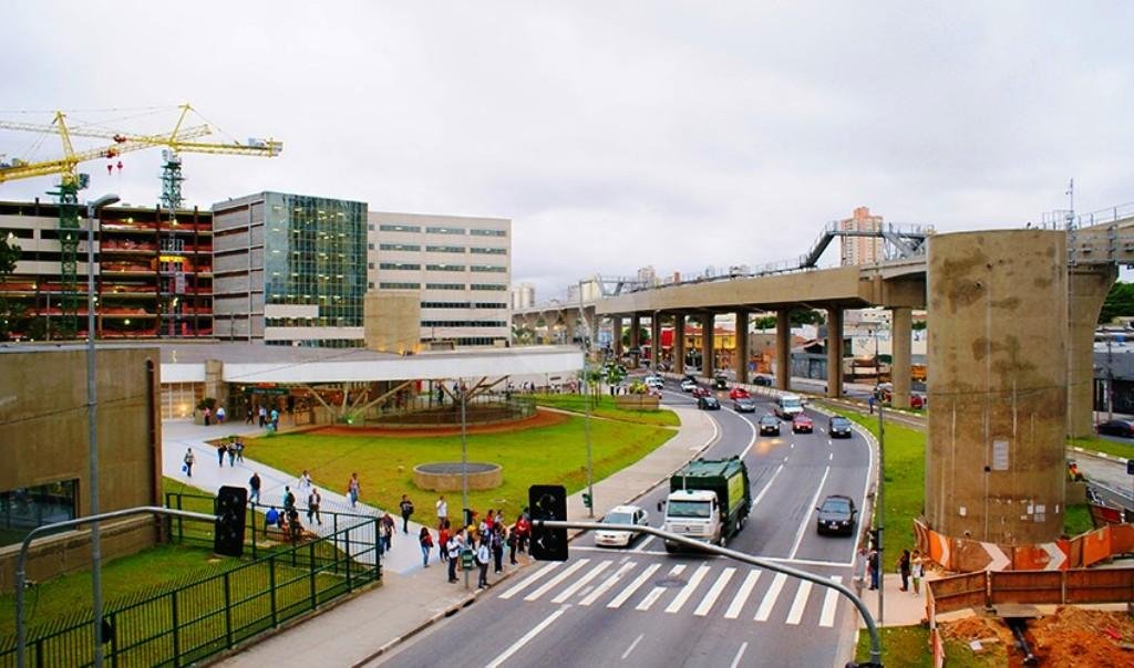
[[[181,509],[212,512],[213,500],[167,495],[167,505]],[[280,545],[277,541],[284,537],[265,533],[259,514],[248,512],[251,562],[235,568],[221,566],[105,605],[107,665],[183,666],[201,661],[381,580],[376,517],[323,513],[324,522],[330,520],[328,534]],[[212,547],[208,524],[174,521],[167,530],[171,542]],[[83,610],[31,625],[26,665],[92,665],[92,613]],[[16,650],[15,635],[0,639],[0,666],[15,666]]]

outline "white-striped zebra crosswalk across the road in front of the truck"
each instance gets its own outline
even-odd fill
[[[650,563],[577,559],[552,563],[506,589],[498,598],[525,602],[547,600],[578,606],[624,606],[641,613],[692,614],[753,623],[782,622],[799,626],[832,627],[840,605],[837,591],[776,573],[761,577],[755,568],[719,563]],[[829,576],[843,583],[844,576]],[[653,586],[648,586],[653,584]]]

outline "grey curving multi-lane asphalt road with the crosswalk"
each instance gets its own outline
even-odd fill
[[[692,402],[667,388],[667,403]],[[814,434],[759,436],[755,413],[712,413],[719,435],[703,456],[739,455],[753,507],[729,547],[850,584],[855,539],[820,537],[814,507],[829,494],[862,507],[870,446],[861,435],[830,440],[827,418],[810,412]],[[661,524],[661,486],[636,502]],[[857,614],[833,590],[725,558],[667,555],[660,540],[627,549],[572,542],[570,559],[544,564],[494,588],[452,618],[380,658],[388,666],[841,666],[850,658]]]

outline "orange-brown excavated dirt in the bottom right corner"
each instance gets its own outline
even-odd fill
[[[997,617],[976,616],[942,623],[941,635],[968,643],[996,637],[987,643],[987,652],[1007,656],[1007,666],[1023,666],[1023,656],[1015,649],[1015,637]],[[1027,624],[1026,634],[1039,666],[1060,668],[1102,668],[1134,666],[1134,619],[1125,611],[1089,610],[1064,607],[1055,615]],[[955,650],[956,651],[956,650]],[[960,650],[964,651],[964,650]]]

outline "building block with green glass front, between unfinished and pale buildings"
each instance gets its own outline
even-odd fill
[[[260,192],[213,205],[215,335],[363,344],[366,204]]]

